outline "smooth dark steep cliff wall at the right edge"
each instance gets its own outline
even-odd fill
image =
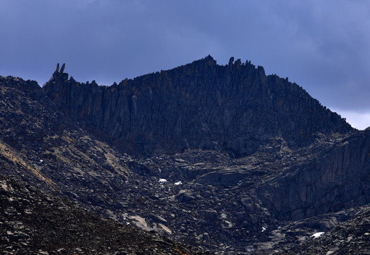
[[[356,132],[298,169],[257,189],[279,219],[298,220],[370,200],[370,129]]]

